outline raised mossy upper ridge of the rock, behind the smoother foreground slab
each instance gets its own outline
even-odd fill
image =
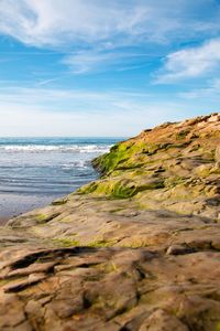
[[[131,197],[143,209],[166,209],[218,220],[220,116],[165,124],[119,143],[94,161],[103,174],[79,191]]]

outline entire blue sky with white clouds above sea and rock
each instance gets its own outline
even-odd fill
[[[219,104],[220,0],[0,0],[2,137],[130,137]]]

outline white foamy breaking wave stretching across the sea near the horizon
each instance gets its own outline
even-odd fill
[[[8,152],[78,152],[105,153],[111,145],[0,145],[0,151]]]

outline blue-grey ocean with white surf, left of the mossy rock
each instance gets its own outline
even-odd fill
[[[0,138],[0,216],[41,207],[95,180],[90,161],[124,138]]]

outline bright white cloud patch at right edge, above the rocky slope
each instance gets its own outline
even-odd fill
[[[220,67],[220,39],[206,42],[201,46],[170,53],[157,77],[157,83],[197,78]]]

